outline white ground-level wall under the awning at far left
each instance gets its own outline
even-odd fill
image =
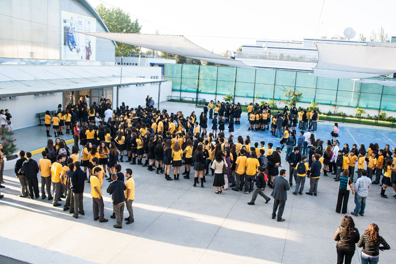
[[[36,119],[36,113],[56,110],[59,104],[62,104],[62,93],[41,98],[26,95],[18,96],[16,101],[1,102],[1,109],[9,109],[9,113],[12,115],[12,128],[21,129],[37,125],[39,121]]]

